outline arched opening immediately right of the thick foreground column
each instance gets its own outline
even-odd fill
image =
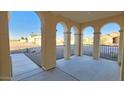
[[[64,58],[64,32],[66,32],[66,25],[62,22],[56,25],[56,59]]]

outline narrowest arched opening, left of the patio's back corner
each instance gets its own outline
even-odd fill
[[[70,39],[70,45],[71,45],[71,56],[76,54],[76,34],[78,33],[77,28],[75,26],[71,27],[71,39]]]

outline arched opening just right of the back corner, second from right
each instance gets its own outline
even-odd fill
[[[83,44],[83,49],[82,53],[84,55],[92,56],[93,55],[93,35],[94,33],[94,28],[92,26],[88,26],[83,29],[82,31],[82,44]]]

